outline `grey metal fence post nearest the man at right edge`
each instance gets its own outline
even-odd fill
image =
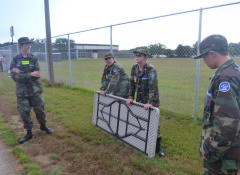
[[[200,44],[200,41],[201,41],[201,34],[202,34],[202,8],[200,8],[200,11],[199,11],[199,30],[198,30],[197,55],[199,55],[199,44]],[[198,113],[199,72],[200,72],[200,59],[197,59],[194,120],[197,120],[197,113]]]

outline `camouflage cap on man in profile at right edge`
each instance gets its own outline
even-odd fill
[[[226,52],[228,51],[228,42],[227,39],[222,35],[210,35],[205,38],[199,45],[199,52],[200,54],[196,57],[202,58],[202,56],[209,51],[216,51],[216,52]]]

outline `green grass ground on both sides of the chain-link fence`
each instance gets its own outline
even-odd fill
[[[119,59],[119,63],[130,74],[134,59]],[[141,152],[127,147],[116,138],[106,134],[92,125],[93,94],[99,90],[104,67],[103,60],[75,60],[72,62],[72,82],[74,88],[58,83],[50,87],[46,81],[43,97],[45,110],[50,119],[48,124],[57,128],[64,126],[67,132],[55,132],[52,143],[61,141],[58,149],[69,153],[68,161],[77,163],[77,168],[89,166],[91,174],[101,170],[101,174],[202,174],[202,160],[198,154],[201,134],[201,113],[203,97],[208,87],[208,77],[214,71],[206,68],[201,62],[199,87],[198,120],[192,119],[195,100],[196,60],[192,59],[151,59],[158,71],[161,99],[161,133],[165,158],[155,156],[148,158]],[[44,64],[41,64],[44,75]],[[55,62],[55,80],[68,84],[67,62]],[[44,75],[46,76],[46,75]],[[0,74],[0,97],[16,105],[14,82],[6,74]],[[87,90],[88,89],[88,90]],[[15,106],[16,107],[16,106]],[[9,125],[11,124],[8,123]],[[14,152],[30,171],[31,160],[24,150],[16,146],[17,135],[11,131],[5,133],[7,124],[0,121],[1,138],[10,139]],[[55,139],[55,140],[54,140]],[[51,141],[50,141],[51,143]],[[28,144],[23,146],[28,149]],[[67,149],[66,149],[67,148]],[[60,153],[51,153],[50,159],[57,161]],[[80,162],[80,163],[79,163]],[[30,164],[26,166],[26,164]],[[32,168],[34,169],[34,168]],[[34,171],[41,171],[36,168]],[[60,167],[50,174],[61,174]],[[37,174],[37,173],[36,173]]]

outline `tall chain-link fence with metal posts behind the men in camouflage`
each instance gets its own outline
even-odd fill
[[[238,23],[230,20],[236,14],[227,14],[226,8],[240,11],[239,3],[228,4],[52,37],[55,82],[98,91],[104,54],[113,52],[130,76],[135,64],[133,50],[146,47],[148,62],[158,73],[160,109],[201,117],[209,77],[215,70],[192,57],[197,54],[201,35],[223,34],[228,39],[232,31],[240,30]],[[213,14],[219,15],[213,19]],[[217,30],[212,30],[213,26]],[[238,42],[229,41],[229,53],[240,63],[240,37],[235,36],[235,40]],[[31,53],[39,58],[42,78],[48,79],[45,50],[45,40],[34,40]],[[6,55],[8,65],[17,53],[16,44],[0,48],[0,56]]]

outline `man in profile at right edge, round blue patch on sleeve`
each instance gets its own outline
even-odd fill
[[[237,175],[240,167],[240,70],[228,56],[228,43],[211,35],[199,46],[200,55],[217,69],[205,97],[200,156],[204,175]]]

